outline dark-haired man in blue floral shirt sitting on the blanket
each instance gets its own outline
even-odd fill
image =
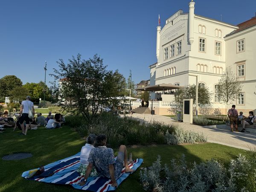
[[[99,176],[110,178],[112,180],[112,186],[117,187],[116,178],[119,177],[122,172],[123,162],[125,163],[126,173],[134,172],[134,170],[130,169],[128,166],[126,146],[120,145],[115,161],[113,149],[106,147],[106,135],[98,135],[96,137],[96,143],[98,147],[93,148],[90,151],[88,158],[89,165],[87,166],[84,180],[81,181],[80,186],[83,186],[86,183],[86,180],[94,166]]]

